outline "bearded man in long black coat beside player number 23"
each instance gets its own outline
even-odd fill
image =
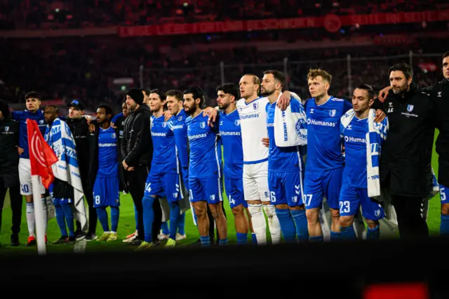
[[[380,164],[380,185],[391,196],[401,238],[426,238],[429,228],[422,211],[431,193],[431,154],[435,116],[430,91],[413,83],[410,65],[389,68],[393,93],[383,103],[389,118],[389,135]]]

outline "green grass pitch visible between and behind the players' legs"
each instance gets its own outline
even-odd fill
[[[438,132],[436,132],[438,135]],[[434,166],[435,173],[438,173],[438,156],[435,152],[432,156],[432,165]],[[27,218],[25,213],[25,199],[22,207],[22,225],[20,232],[20,246],[11,247],[10,244],[10,236],[11,236],[11,208],[9,207],[9,199],[8,194],[6,195],[6,201],[3,209],[3,221],[1,225],[0,232],[0,254],[22,254],[22,253],[30,253],[36,254],[37,249],[36,246],[31,248],[25,247],[25,242],[27,240],[28,231],[27,231]],[[234,230],[234,217],[232,215],[232,211],[229,208],[229,201],[227,201],[226,194],[223,194],[223,199],[225,201],[225,208],[228,219],[228,239],[229,244],[236,243],[236,232]],[[440,196],[436,195],[433,199],[431,199],[429,204],[429,216],[428,216],[428,224],[429,230],[431,234],[438,234],[440,227]],[[109,208],[108,208],[109,211]],[[109,218],[110,223],[110,218]],[[119,239],[117,241],[110,242],[98,242],[98,241],[89,241],[87,242],[86,252],[92,251],[133,251],[135,246],[131,246],[129,244],[123,243],[122,240],[126,237],[127,234],[130,234],[135,230],[135,220],[134,220],[134,207],[133,200],[131,199],[129,194],[121,195],[121,206],[120,206],[120,220],[119,220]],[[192,242],[198,239],[198,231],[193,224],[192,221],[192,211],[187,211],[186,214],[186,225],[185,231],[187,234],[187,239],[178,241],[177,247],[186,246],[187,244],[191,244]],[[48,222],[48,243],[47,253],[72,253],[74,251],[74,246],[71,245],[51,245],[51,241],[58,239],[60,237],[60,230],[58,228],[58,224],[56,223],[55,218],[51,219]],[[100,222],[97,225],[97,235],[100,236],[102,233]],[[248,234],[248,241],[250,241],[250,234]]]

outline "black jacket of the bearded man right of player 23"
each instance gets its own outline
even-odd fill
[[[412,84],[404,98],[389,93],[384,111],[389,131],[380,158],[381,186],[392,195],[427,197],[435,132],[431,94]]]

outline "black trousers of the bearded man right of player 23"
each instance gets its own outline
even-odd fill
[[[429,237],[429,227],[424,215],[422,197],[402,197],[391,195],[392,204],[398,217],[398,229],[401,239]]]

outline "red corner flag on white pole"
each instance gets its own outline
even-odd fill
[[[51,166],[58,162],[58,157],[43,139],[36,121],[27,119],[27,133],[31,175],[39,175],[43,186],[48,189],[55,179]]]

